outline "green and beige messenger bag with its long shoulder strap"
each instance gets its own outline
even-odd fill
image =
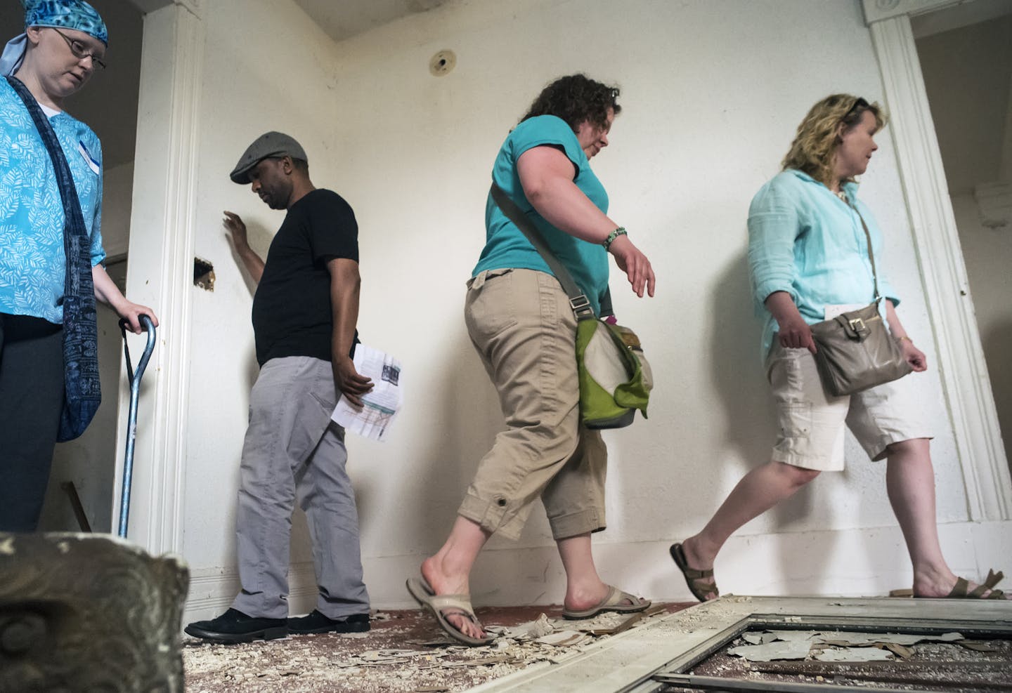
[[[597,318],[590,301],[569,270],[559,262],[544,237],[526,214],[495,183],[492,198],[523,232],[570,298],[577,319],[576,360],[580,378],[580,420],[591,429],[622,428],[632,423],[637,410],[647,418],[653,387],[650,364],[640,338],[628,328]],[[602,315],[611,315],[611,292],[601,301]]]

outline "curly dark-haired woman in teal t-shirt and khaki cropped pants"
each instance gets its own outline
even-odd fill
[[[493,180],[527,214],[595,312],[608,253],[634,292],[654,295],[654,272],[617,224],[590,159],[608,146],[618,90],[583,75],[549,85],[499,151]],[[642,611],[650,602],[605,585],[591,554],[604,529],[607,451],[580,425],[576,318],[569,297],[523,233],[489,196],[486,245],[468,282],[468,333],[499,393],[507,429],[479,463],[449,537],[408,589],[467,644],[491,640],[471,605],[471,569],[488,538],[517,538],[540,498],[567,585],[564,613]]]

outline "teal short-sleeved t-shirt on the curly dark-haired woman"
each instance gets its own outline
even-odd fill
[[[590,162],[580,148],[573,129],[560,117],[538,115],[517,125],[503,143],[492,169],[492,179],[516,202],[544,236],[549,247],[573,280],[590,299],[594,313],[600,313],[601,296],[608,288],[608,253],[596,243],[588,243],[556,229],[527,201],[516,172],[520,155],[533,147],[556,147],[573,162],[573,182],[595,206],[608,212],[608,194],[590,170]],[[488,269],[552,270],[530,245],[523,232],[506,218],[489,195],[485,205],[486,242],[472,276]]]

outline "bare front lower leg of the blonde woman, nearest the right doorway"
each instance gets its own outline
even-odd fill
[[[914,566],[914,594],[944,597],[955,586],[955,574],[942,556],[935,516],[935,472],[926,438],[889,446],[886,490],[900,522]],[[977,587],[971,583],[969,589]],[[985,592],[985,596],[990,594]]]

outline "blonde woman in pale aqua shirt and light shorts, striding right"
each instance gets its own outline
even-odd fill
[[[935,524],[931,433],[915,415],[909,379],[847,397],[825,392],[809,328],[874,295],[861,220],[871,239],[880,302],[892,336],[915,371],[924,353],[897,316],[898,293],[882,268],[881,231],[857,199],[886,116],[877,103],[834,94],[816,103],[797,127],[783,170],[763,185],[749,208],[749,270],[764,317],[762,355],[776,401],[779,431],[771,460],[746,474],[698,534],[671,546],[671,556],[700,601],[715,599],[713,560],[742,525],[816,479],[844,466],[844,426],[868,457],[887,460],[886,486],[914,568],[914,595],[1004,599],[957,578],[942,557]]]

